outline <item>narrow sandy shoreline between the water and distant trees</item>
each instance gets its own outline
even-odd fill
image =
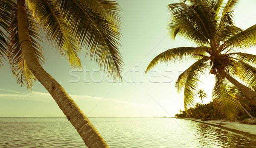
[[[212,126],[217,126],[220,128],[224,129],[232,129],[236,131],[241,131],[244,133],[249,133],[253,134],[256,136],[256,125],[252,124],[243,124],[239,122],[232,122],[232,121],[227,121],[227,120],[207,120],[207,121],[202,121],[201,119],[193,119],[193,118],[179,118],[179,119],[187,119],[187,120],[192,120]],[[216,124],[218,123],[218,124]]]

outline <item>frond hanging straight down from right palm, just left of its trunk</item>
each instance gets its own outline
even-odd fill
[[[220,75],[215,77],[215,87],[212,91],[212,98],[215,101],[215,108],[218,112],[230,120],[238,117],[239,100],[230,91],[232,84],[226,79],[222,79]]]

